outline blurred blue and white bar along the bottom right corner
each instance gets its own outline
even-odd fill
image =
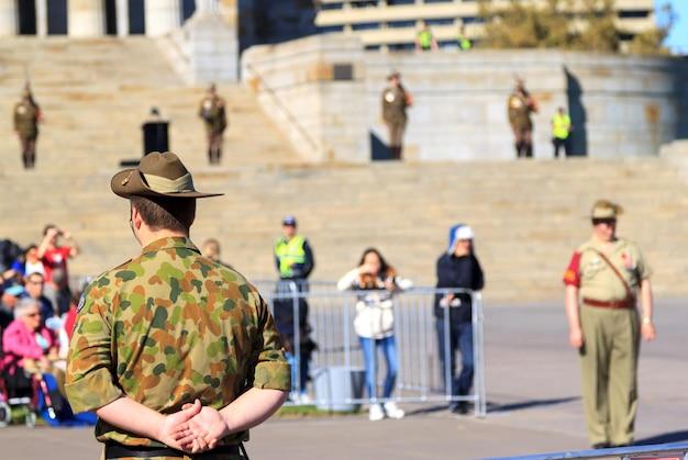
[[[578,450],[540,453],[524,457],[500,457],[486,460],[572,460],[572,459],[620,459],[620,460],[688,460],[688,442],[655,446],[632,446],[612,449]]]

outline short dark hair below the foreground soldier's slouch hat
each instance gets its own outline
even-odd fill
[[[131,204],[152,229],[189,232],[196,218],[196,199],[132,197]]]

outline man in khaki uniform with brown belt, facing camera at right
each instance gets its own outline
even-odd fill
[[[595,448],[633,442],[640,336],[655,338],[652,270],[637,245],[615,236],[621,212],[609,201],[595,203],[593,235],[574,253],[564,274],[569,343],[580,354],[586,422]]]

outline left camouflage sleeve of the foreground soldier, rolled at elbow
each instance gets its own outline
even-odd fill
[[[95,411],[123,395],[111,373],[110,308],[102,280],[107,278],[84,292],[69,341],[65,392],[75,413]]]

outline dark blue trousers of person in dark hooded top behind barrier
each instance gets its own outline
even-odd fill
[[[440,347],[440,369],[442,370],[442,384],[445,386],[446,393],[446,363],[445,359],[445,323],[444,318],[439,318],[435,323],[437,330],[437,345]],[[450,337],[448,337],[448,351],[450,351],[450,381],[452,385],[453,396],[465,396],[470,392],[473,386],[473,324],[471,323],[458,323],[450,322]],[[456,377],[456,351],[462,355],[462,370]]]

